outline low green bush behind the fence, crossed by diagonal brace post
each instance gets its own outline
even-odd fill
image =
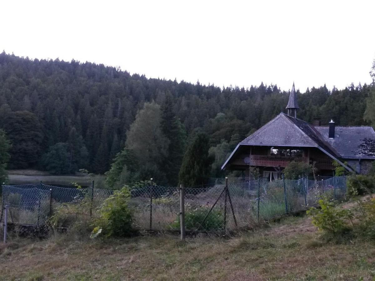
[[[208,211],[210,211],[209,208],[205,207],[189,208],[189,206],[187,206],[187,210],[188,211],[185,213],[185,228],[188,230],[197,230],[208,214]],[[177,219],[171,224],[171,227],[174,229],[180,227],[180,215],[177,216]],[[199,230],[223,230],[223,227],[223,213],[220,210],[213,209],[206,220],[203,222],[203,224],[199,227]]]

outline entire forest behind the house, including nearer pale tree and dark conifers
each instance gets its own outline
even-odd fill
[[[374,81],[348,85],[298,90],[298,118],[374,125]],[[107,172],[112,188],[153,175],[175,185],[194,172],[189,165],[201,167],[203,177],[223,176],[220,166],[231,150],[285,111],[288,97],[277,85],[192,84],[103,64],[0,53],[0,128],[11,145],[7,168]]]

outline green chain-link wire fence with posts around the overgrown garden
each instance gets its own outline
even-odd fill
[[[180,188],[154,184],[132,188],[129,206],[139,230],[180,229]],[[251,228],[259,221],[298,212],[312,206],[324,194],[341,200],[346,178],[300,178],[268,181],[266,178],[215,178],[210,184],[183,188],[184,224],[187,231],[230,233]],[[4,185],[1,220],[10,206],[10,222],[43,225],[51,215],[64,214],[59,225],[95,217],[112,190],[64,188],[44,184]]]

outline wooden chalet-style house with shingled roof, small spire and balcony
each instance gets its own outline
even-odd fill
[[[296,90],[290,93],[287,114],[280,113],[240,142],[222,169],[249,171],[258,167],[271,181],[281,176],[291,161],[314,163],[320,175],[333,175],[337,161],[350,172],[365,174],[375,160],[375,132],[372,127],[321,126],[320,119],[308,124],[297,118]]]

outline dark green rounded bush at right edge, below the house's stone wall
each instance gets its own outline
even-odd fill
[[[351,175],[347,178],[349,197],[370,194],[375,191],[374,178],[366,175]]]

